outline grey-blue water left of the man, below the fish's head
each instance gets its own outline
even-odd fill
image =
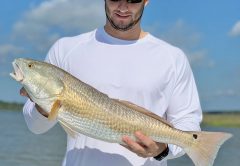
[[[60,166],[65,147],[66,135],[60,126],[35,135],[20,111],[0,110],[0,166]]]

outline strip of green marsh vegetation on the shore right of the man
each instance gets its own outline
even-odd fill
[[[240,128],[240,112],[204,113],[202,126]]]

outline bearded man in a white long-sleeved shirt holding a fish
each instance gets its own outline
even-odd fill
[[[46,61],[111,98],[130,101],[167,119],[181,130],[200,130],[202,118],[192,71],[178,48],[144,32],[140,20],[148,0],[105,0],[106,24],[92,32],[58,40]],[[21,95],[27,96],[24,89]],[[34,107],[35,106],[35,107]],[[23,109],[29,129],[44,133],[56,124],[28,100]],[[144,123],[144,122],[143,122]],[[126,146],[79,134],[67,137],[63,165],[167,165],[184,152],[136,131]]]

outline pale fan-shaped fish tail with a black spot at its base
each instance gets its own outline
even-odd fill
[[[190,132],[194,144],[184,148],[196,166],[212,166],[220,146],[232,137],[222,132]]]

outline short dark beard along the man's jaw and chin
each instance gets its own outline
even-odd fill
[[[109,9],[107,8],[107,5],[105,3],[106,17],[107,17],[108,21],[110,22],[111,26],[114,29],[119,30],[119,31],[127,31],[129,29],[132,29],[133,26],[136,25],[141,20],[143,11],[144,11],[144,4],[142,5],[140,11],[136,14],[136,15],[138,15],[138,18],[136,18],[135,20],[132,18],[128,24],[124,25],[124,24],[114,22],[114,20],[109,16]]]

